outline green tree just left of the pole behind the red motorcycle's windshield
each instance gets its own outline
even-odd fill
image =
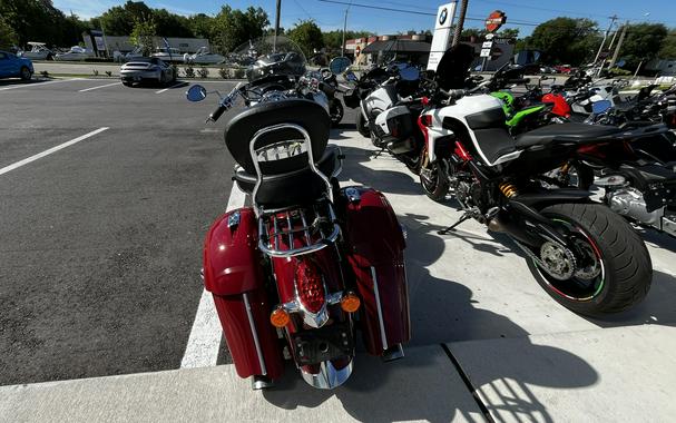
[[[214,18],[213,41],[223,51],[232,51],[247,40],[262,37],[268,24],[267,13],[262,8],[248,7],[243,12],[224,6]]]

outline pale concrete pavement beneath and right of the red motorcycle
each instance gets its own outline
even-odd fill
[[[315,391],[290,366],[276,390],[252,392],[216,366],[0,387],[11,422],[484,421],[462,380],[499,422],[670,422],[676,384],[676,239],[645,232],[655,268],[646,299],[596,321],[551,299],[509,239],[429,200],[403,165],[354,130],[333,131],[342,185],[383,190],[408,227],[413,340],[404,360],[360,353],[354,374]],[[448,346],[448,356],[440,344]],[[462,374],[458,371],[461,368]],[[2,420],[0,419],[0,420]]]

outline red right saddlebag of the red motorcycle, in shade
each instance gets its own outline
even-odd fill
[[[411,338],[405,242],[384,195],[369,187],[347,187],[343,193],[347,260],[364,303],[360,312],[364,344],[370,354],[381,355]]]

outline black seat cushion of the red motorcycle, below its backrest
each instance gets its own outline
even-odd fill
[[[341,149],[330,145],[324,156],[316,163],[317,169],[331,178],[341,167]],[[252,195],[256,186],[256,174],[249,174],[239,165],[235,166],[233,179],[244,193]],[[263,175],[256,201],[264,208],[282,208],[305,205],[320,198],[326,191],[326,184],[310,167],[278,174]]]

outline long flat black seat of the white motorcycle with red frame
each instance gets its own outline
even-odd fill
[[[600,140],[601,138],[608,140],[608,137],[621,131],[617,127],[605,125],[549,125],[519,135],[515,146],[517,149],[526,149],[532,146],[545,146],[555,141],[586,144]]]

